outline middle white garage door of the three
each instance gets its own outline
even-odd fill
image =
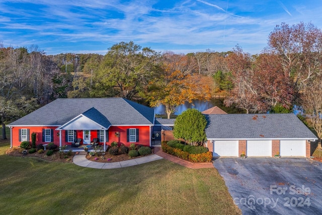
[[[272,140],[247,140],[248,157],[272,157]]]

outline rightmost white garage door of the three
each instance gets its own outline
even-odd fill
[[[280,155],[285,157],[305,157],[305,140],[281,140]]]

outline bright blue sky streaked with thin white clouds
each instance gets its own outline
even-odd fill
[[[0,0],[5,47],[38,45],[47,54],[105,54],[134,41],[156,51],[260,53],[276,25],[322,28],[320,0]]]

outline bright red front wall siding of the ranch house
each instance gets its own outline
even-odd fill
[[[26,128],[30,129],[30,142],[31,142],[31,134],[32,132],[36,132],[36,145],[39,144],[44,144],[42,141],[42,129],[45,128],[50,128],[53,129],[53,134],[54,134],[54,144],[59,146],[59,136],[57,136],[57,133],[59,131],[55,130],[57,127],[53,126],[44,126],[44,127],[31,127],[31,126],[23,126],[23,127],[18,127],[15,126],[12,128],[12,142],[13,142],[13,147],[18,147],[20,146],[21,142],[19,141],[19,129],[20,128]],[[122,126],[122,127],[115,127],[111,126],[109,129],[109,141],[107,144],[110,145],[111,142],[116,141],[119,144],[124,144],[125,146],[130,146],[131,142],[127,142],[126,140],[126,129],[127,128],[138,128],[139,129],[139,141],[136,142],[135,144],[141,144],[143,146],[149,146],[150,145],[150,128],[149,126]],[[120,137],[115,136],[115,132],[120,132]],[[83,130],[77,130],[77,138],[82,138],[83,139]],[[91,130],[91,140],[93,138],[99,138],[97,130]],[[62,145],[71,145],[71,142],[66,142],[65,141],[65,130],[61,131],[61,144]],[[100,145],[103,145],[103,142],[100,143]]]

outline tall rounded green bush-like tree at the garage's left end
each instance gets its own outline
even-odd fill
[[[184,139],[189,145],[201,146],[206,138],[207,120],[197,109],[182,112],[175,120],[173,134]]]

